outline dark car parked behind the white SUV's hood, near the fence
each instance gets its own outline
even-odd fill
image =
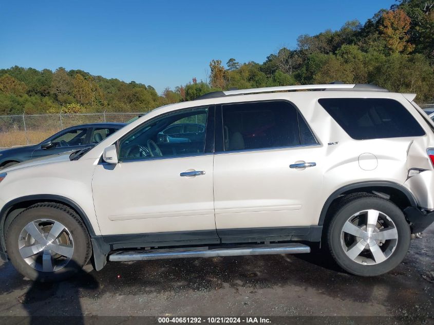
[[[126,123],[93,123],[72,126],[49,137],[40,144],[0,151],[0,169],[22,161],[94,146]]]

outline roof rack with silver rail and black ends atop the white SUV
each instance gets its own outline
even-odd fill
[[[387,89],[375,86],[372,84],[341,84],[339,82],[333,82],[332,84],[323,85],[295,85],[295,86],[279,86],[279,87],[263,87],[263,88],[251,88],[251,89],[236,89],[225,91],[213,91],[205,93],[199,96],[199,99],[217,98],[231,95],[243,95],[251,93],[272,92],[272,91],[295,91],[295,90],[351,90],[351,91],[382,91],[386,92]]]

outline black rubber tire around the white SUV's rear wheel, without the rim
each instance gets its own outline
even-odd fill
[[[398,234],[398,240],[393,252],[386,260],[373,265],[364,265],[357,263],[347,256],[341,243],[341,233],[344,224],[351,216],[369,209],[375,209],[393,221]],[[401,209],[391,201],[374,195],[344,198],[336,206],[335,214],[327,230],[328,248],[336,263],[345,271],[358,276],[378,276],[393,270],[407,255],[410,240],[410,226],[405,220]]]

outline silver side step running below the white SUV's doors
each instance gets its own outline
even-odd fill
[[[242,256],[310,253],[310,247],[300,243],[237,245],[232,247],[187,247],[122,251],[111,254],[110,261],[145,261],[188,257]]]

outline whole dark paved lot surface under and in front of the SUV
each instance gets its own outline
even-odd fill
[[[434,226],[389,274],[362,278],[321,251],[300,255],[111,262],[58,284],[0,265],[0,316],[433,316]],[[428,317],[428,319],[426,319]]]

